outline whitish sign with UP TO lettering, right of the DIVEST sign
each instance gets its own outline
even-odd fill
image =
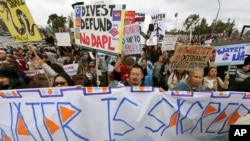
[[[140,54],[140,25],[138,23],[129,24],[124,27],[122,51],[124,54]]]

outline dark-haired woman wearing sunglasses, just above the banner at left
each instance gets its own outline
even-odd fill
[[[53,87],[75,86],[75,83],[67,73],[59,73],[55,76]]]

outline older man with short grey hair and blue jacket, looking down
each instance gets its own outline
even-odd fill
[[[188,77],[179,82],[175,87],[171,90],[179,90],[179,91],[198,91],[202,92],[202,79],[203,79],[203,69],[202,68],[193,68],[189,71]]]

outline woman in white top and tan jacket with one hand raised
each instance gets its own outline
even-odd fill
[[[229,76],[224,77],[224,81],[220,77],[217,77],[216,67],[210,67],[208,75],[203,78],[203,89],[205,91],[218,91],[219,86],[222,89],[227,89],[229,85]]]

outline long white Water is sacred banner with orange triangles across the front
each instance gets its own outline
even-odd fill
[[[151,87],[1,91],[0,136],[10,141],[228,140],[249,93]]]

